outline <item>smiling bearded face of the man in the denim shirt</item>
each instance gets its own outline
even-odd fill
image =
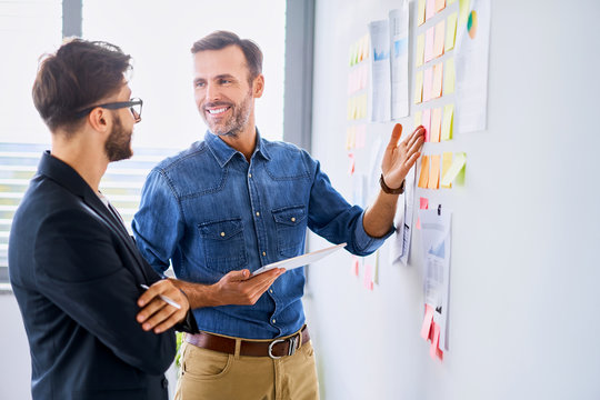
[[[262,76],[250,83],[241,49],[228,46],[194,54],[194,98],[210,131],[238,139],[254,131],[254,98],[262,94]]]

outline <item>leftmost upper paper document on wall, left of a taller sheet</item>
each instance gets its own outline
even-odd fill
[[[388,20],[369,23],[371,37],[371,121],[390,120],[390,30]]]

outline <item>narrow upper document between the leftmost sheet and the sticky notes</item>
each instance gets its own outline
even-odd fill
[[[390,11],[391,41],[391,118],[409,114],[409,4],[400,1],[400,8]]]

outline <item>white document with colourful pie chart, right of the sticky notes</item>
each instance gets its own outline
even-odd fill
[[[461,12],[454,57],[457,73],[456,129],[473,132],[486,129],[488,108],[488,59],[490,47],[490,0],[472,0]]]

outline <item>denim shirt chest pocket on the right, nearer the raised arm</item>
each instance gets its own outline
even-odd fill
[[[291,206],[271,211],[277,228],[277,249],[283,257],[302,253],[307,234],[306,206]]]

